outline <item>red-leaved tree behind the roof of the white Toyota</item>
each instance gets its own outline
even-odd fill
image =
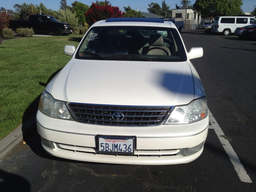
[[[123,17],[124,12],[119,10],[119,7],[109,5],[109,1],[105,0],[105,5],[100,5],[98,0],[92,3],[92,6],[85,13],[86,21],[91,26],[97,21],[107,18]]]

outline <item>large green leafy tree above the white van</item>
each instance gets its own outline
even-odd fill
[[[242,14],[242,0],[196,0],[193,10],[202,17],[236,16]]]

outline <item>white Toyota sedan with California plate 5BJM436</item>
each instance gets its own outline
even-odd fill
[[[167,36],[166,36],[167,34]],[[44,89],[36,114],[54,156],[115,164],[180,164],[200,156],[209,115],[176,26],[158,18],[94,23]]]

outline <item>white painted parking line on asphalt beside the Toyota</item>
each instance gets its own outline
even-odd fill
[[[251,178],[246,173],[246,170],[244,169],[244,166],[241,164],[240,160],[238,159],[238,156],[236,155],[236,152],[223,136],[225,136],[224,132],[221,130],[220,126],[216,122],[215,118],[212,116],[212,113],[209,110],[209,129],[214,129],[215,133],[217,134],[220,143],[222,144],[224,150],[228,154],[228,157],[230,161],[232,162],[236,173],[238,174],[238,177],[242,182],[246,183],[252,183]]]

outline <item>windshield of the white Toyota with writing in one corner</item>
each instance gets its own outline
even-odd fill
[[[108,26],[91,28],[75,58],[181,62],[186,54],[174,28]]]

